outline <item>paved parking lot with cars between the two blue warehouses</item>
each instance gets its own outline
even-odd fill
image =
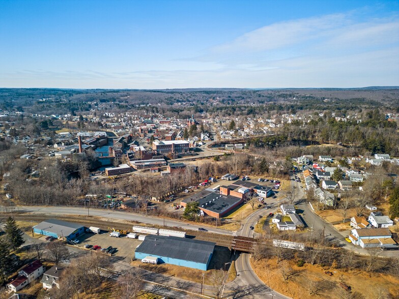
[[[92,247],[97,245],[101,248],[112,246],[112,248],[117,249],[113,255],[128,258],[128,260],[134,257],[134,250],[142,242],[137,239],[127,238],[122,234],[121,237],[111,237],[109,236],[109,232],[102,232],[100,234],[85,233],[78,237],[77,240],[80,242],[77,246],[81,247],[82,250],[87,250],[84,248],[87,244]]]

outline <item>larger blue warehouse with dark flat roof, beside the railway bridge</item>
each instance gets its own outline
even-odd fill
[[[134,252],[137,259],[156,257],[160,263],[208,270],[216,243],[175,236],[148,235]]]

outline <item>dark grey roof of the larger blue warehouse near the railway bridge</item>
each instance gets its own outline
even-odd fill
[[[216,243],[175,236],[147,235],[135,252],[208,263]]]

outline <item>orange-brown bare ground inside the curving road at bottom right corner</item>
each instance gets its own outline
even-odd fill
[[[399,278],[390,275],[369,274],[359,270],[345,272],[310,264],[298,267],[295,263],[284,263],[287,261],[277,263],[277,259],[251,259],[252,268],[261,280],[294,299],[347,298],[349,293],[340,283],[351,287],[353,298],[356,294],[362,298],[397,298],[399,294]],[[281,269],[287,271],[290,267],[292,275],[284,282]],[[332,276],[325,274],[326,271],[331,272]]]

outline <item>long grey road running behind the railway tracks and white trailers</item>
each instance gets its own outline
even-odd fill
[[[16,206],[15,211],[20,211],[24,213],[33,213],[33,214],[51,214],[51,215],[83,215],[86,216],[87,210],[81,207],[65,207],[65,206]],[[202,227],[201,225],[194,225],[185,223],[183,221],[174,221],[163,218],[157,218],[152,216],[138,215],[133,213],[127,213],[124,211],[109,211],[109,210],[98,210],[91,208],[90,216],[99,216],[110,219],[121,219],[121,220],[130,220],[137,221],[141,223],[147,224],[155,224],[155,225],[163,225],[169,227],[180,227],[184,229],[198,230],[198,228]],[[219,228],[211,228],[207,227],[209,232],[232,235],[233,232],[219,229]]]

